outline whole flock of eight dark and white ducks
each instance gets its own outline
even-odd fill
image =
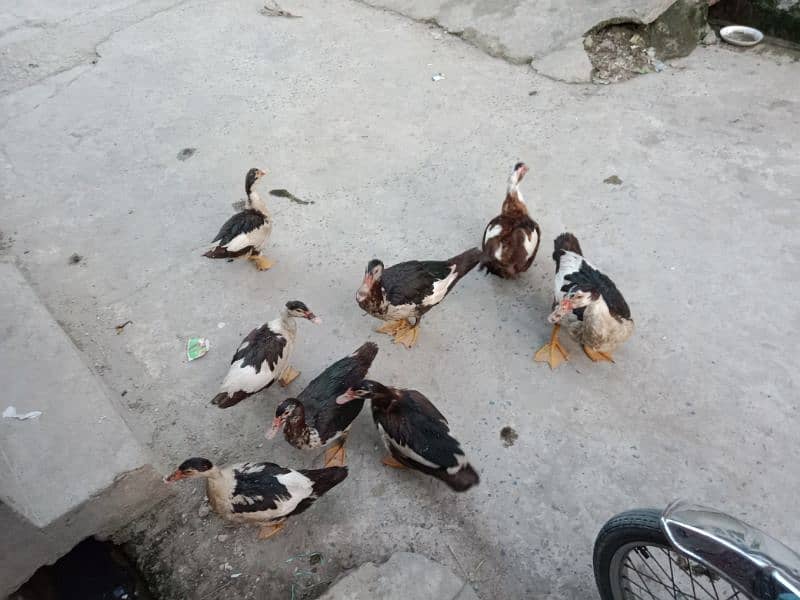
[[[367,313],[385,321],[377,331],[411,348],[427,314],[475,267],[506,279],[528,270],[539,248],[541,231],[530,217],[519,185],[528,172],[517,163],[508,180],[501,213],[489,221],[482,247],[471,248],[448,260],[412,260],[386,267],[378,259],[367,264],[356,302]],[[250,169],[245,178],[245,209],[228,219],[205,253],[209,258],[246,257],[258,270],[273,262],[261,254],[272,219],[254,189],[265,175]],[[583,257],[578,239],[562,233],[554,242],[555,278],[550,340],[534,359],[551,369],[568,360],[558,338],[563,324],[593,361],[612,361],[614,350],[633,333],[625,299],[611,279]],[[299,300],[286,303],[281,314],[253,329],[231,359],[219,393],[212,403],[232,407],[276,381],[289,385],[299,372],[289,364],[297,336],[297,320],[320,323]],[[327,447],[324,468],[289,469],[270,462],[241,463],[220,468],[205,458],[184,461],[166,481],[201,477],[211,506],[225,519],[261,526],[260,538],[269,538],[284,521],[300,514],[347,477],[345,441],[350,427],[369,400],[372,418],[388,450],[384,464],[409,468],[435,477],[463,492],[476,485],[478,473],[461,444],[450,433],[447,419],[416,390],[386,386],[367,379],[378,346],[366,342],[313,379],[296,397],[281,402],[266,437],[283,431],[295,448]]]

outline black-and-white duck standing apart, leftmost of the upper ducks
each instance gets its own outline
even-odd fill
[[[236,213],[219,230],[211,242],[211,250],[203,254],[208,258],[238,258],[247,256],[259,271],[269,269],[274,263],[261,255],[261,249],[272,233],[272,217],[267,205],[253,189],[265,175],[261,169],[250,169],[244,180],[247,194],[245,209]]]

